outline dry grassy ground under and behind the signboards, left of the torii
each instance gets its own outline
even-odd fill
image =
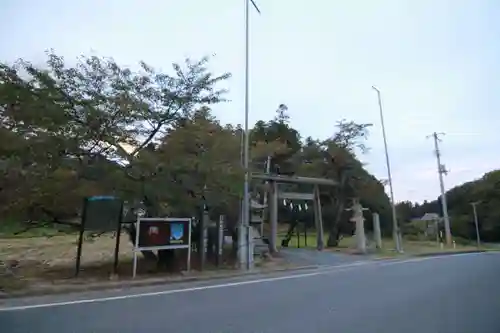
[[[128,235],[122,234],[120,237],[117,274],[113,273],[115,243],[116,238],[111,234],[86,238],[83,242],[80,272],[75,278],[77,235],[0,239],[0,290],[21,289],[33,284],[131,279],[133,251]],[[138,277],[180,275],[187,268],[187,251],[176,250],[175,257],[173,267],[167,269],[158,268],[155,262],[146,261],[138,254]],[[191,269],[198,270],[196,253],[192,254],[191,259]],[[213,268],[214,265],[207,262],[205,269]],[[220,268],[234,268],[234,261],[228,255],[223,256]]]

